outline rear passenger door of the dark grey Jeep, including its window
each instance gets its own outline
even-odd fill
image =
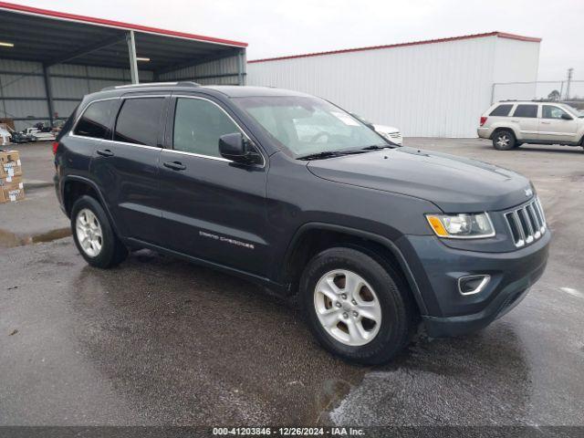
[[[110,140],[96,143],[90,165],[120,235],[152,244],[163,240],[158,162],[168,100],[118,99]]]

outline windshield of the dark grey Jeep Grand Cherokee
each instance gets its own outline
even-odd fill
[[[322,152],[389,146],[360,120],[323,99],[283,96],[234,100],[297,158]]]

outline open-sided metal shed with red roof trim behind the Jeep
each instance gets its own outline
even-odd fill
[[[245,43],[0,2],[0,118],[22,130],[66,119],[112,85],[242,85]]]

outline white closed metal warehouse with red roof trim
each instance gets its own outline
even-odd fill
[[[533,82],[522,99],[535,96],[540,41],[491,32],[257,59],[247,83],[318,95],[405,136],[476,137],[495,83]]]

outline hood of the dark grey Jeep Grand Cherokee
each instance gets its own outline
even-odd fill
[[[527,201],[529,180],[501,167],[401,147],[308,162],[329,181],[430,201],[444,213],[504,210]]]

